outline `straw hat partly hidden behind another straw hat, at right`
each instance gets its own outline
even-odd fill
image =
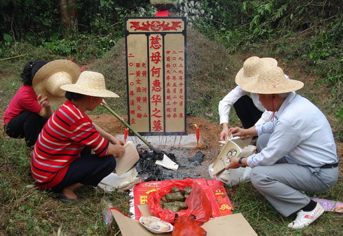
[[[252,56],[243,64],[243,67],[238,71],[236,75],[236,84],[243,86],[246,83],[252,82],[252,80],[257,79],[259,71],[263,67],[276,67],[278,62],[274,58],[259,58],[257,56]]]

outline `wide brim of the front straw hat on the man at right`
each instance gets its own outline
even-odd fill
[[[285,80],[283,84],[259,84],[257,81],[244,84],[241,88],[250,93],[279,94],[297,91],[303,88],[304,83],[298,80]]]

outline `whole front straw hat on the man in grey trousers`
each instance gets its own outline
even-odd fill
[[[250,93],[278,94],[296,91],[303,86],[303,82],[287,79],[280,67],[267,67],[261,70],[257,80],[241,88]]]

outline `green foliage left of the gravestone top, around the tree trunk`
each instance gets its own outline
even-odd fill
[[[97,58],[123,37],[125,17],[138,15],[146,5],[143,0],[75,1],[77,27],[67,31],[62,27],[58,1],[1,1],[0,57],[7,56],[5,49],[13,43],[25,41],[43,46],[51,54],[79,60]]]

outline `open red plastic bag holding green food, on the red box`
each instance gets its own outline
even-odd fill
[[[192,187],[191,194],[185,200],[188,209],[175,213],[169,209],[161,208],[161,198],[163,198],[166,193],[171,193],[170,189],[174,186],[178,187],[180,190],[183,190],[187,186]],[[186,178],[185,180],[168,180],[167,185],[161,187],[161,189],[158,189],[157,191],[149,193],[147,196],[147,207],[149,207],[152,215],[170,223],[174,223],[176,213],[180,217],[195,215],[195,221],[199,225],[209,221],[209,218],[212,215],[212,207],[209,198],[207,198],[206,193],[202,190],[200,185],[191,178]]]

